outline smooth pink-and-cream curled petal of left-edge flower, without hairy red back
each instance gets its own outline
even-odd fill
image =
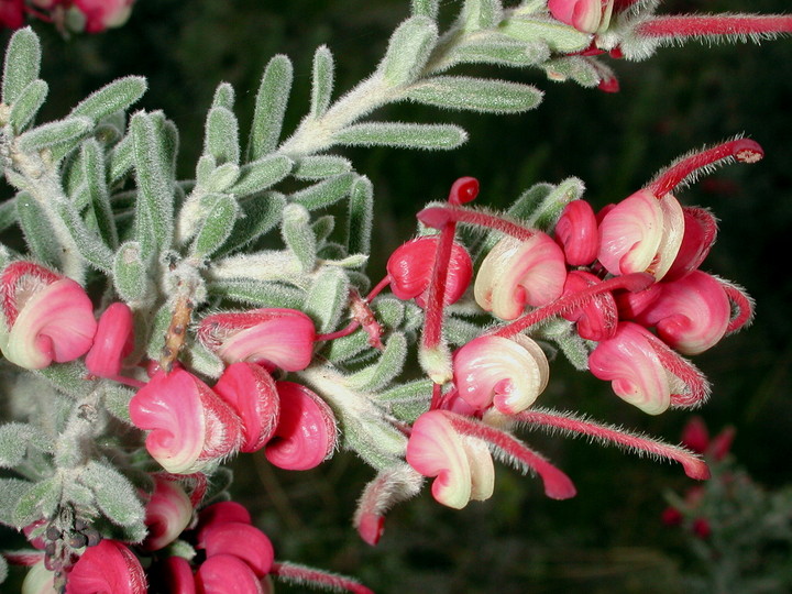
[[[85,289],[62,278],[31,295],[19,311],[2,351],[29,370],[65,363],[88,352],[96,333],[94,305]]]

